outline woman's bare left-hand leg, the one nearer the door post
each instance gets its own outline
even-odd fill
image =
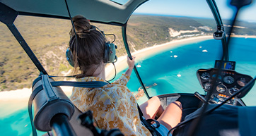
[[[146,119],[152,118],[155,119],[156,116],[161,116],[163,113],[163,107],[161,106],[161,102],[158,97],[152,97],[144,104],[141,104],[140,109],[143,113],[143,116]]]

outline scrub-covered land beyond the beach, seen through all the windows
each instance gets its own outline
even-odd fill
[[[229,24],[228,20],[223,22]],[[47,73],[64,75],[71,69],[65,56],[71,29],[70,20],[18,16],[14,24]],[[105,34],[115,34],[117,56],[126,54],[121,27],[96,23],[94,25]],[[236,35],[256,34],[255,23],[240,21],[236,25],[242,26],[235,28]],[[180,32],[180,35],[170,35],[170,29]],[[211,19],[135,15],[129,19],[127,39],[130,50],[135,51],[173,39],[181,39],[185,35],[212,35],[215,30],[216,23]],[[3,23],[0,23],[0,32],[0,91],[31,87],[39,71]],[[106,37],[110,42],[114,39],[111,35]]]

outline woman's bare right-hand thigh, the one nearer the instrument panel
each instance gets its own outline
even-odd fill
[[[182,105],[180,101],[175,101],[167,106],[162,115],[158,118],[158,122],[165,125],[168,130],[180,123],[182,116]]]

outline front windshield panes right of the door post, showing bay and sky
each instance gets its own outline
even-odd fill
[[[169,2],[171,4],[167,4]],[[221,40],[212,36],[216,21],[206,1],[169,2],[148,1],[129,18],[127,39],[132,55],[136,56],[136,68],[150,97],[170,93],[204,94],[196,72],[200,68],[214,68],[215,60],[221,59]],[[220,6],[220,13],[223,12],[223,24],[228,31],[233,8],[227,1],[216,1],[216,4]],[[248,22],[248,18],[245,19],[248,16],[243,15],[232,34],[235,37],[231,40],[229,56],[230,61],[237,61],[238,73],[254,77],[256,47],[252,43],[256,42],[256,20],[250,18],[252,22]],[[136,75],[132,75],[127,86],[134,94],[138,93],[139,101],[144,101],[147,98],[139,93],[141,85],[135,78]],[[256,87],[250,94],[255,92]],[[243,100],[245,104],[255,105],[248,95]]]

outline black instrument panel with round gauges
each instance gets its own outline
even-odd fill
[[[218,77],[217,75],[217,68],[197,70],[197,79],[204,91],[209,92],[210,89],[213,89],[210,102],[214,104],[220,104],[222,101],[225,101],[252,80],[250,75],[240,74],[235,72],[235,70],[221,69]],[[238,98],[234,97],[227,104],[236,105],[237,101]]]

